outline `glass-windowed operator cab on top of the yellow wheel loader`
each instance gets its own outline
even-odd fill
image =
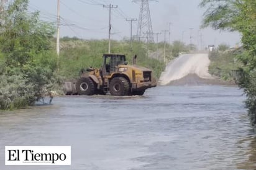
[[[117,54],[103,55],[103,74],[111,74],[117,71],[118,65],[126,65],[126,56]]]

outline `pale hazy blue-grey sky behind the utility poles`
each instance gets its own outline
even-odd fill
[[[209,44],[227,43],[234,47],[240,43],[237,32],[229,33],[213,29],[199,30],[205,9],[198,7],[201,0],[158,0],[150,2],[153,32],[162,32],[171,25],[171,42],[182,40],[190,43],[190,28],[193,28],[192,42],[200,45],[202,34],[204,47]],[[121,40],[130,37],[130,24],[126,18],[139,18],[140,2],[132,0],[60,0],[61,28],[60,35],[76,36],[85,39],[108,38],[109,9],[97,4],[117,5],[112,10],[111,38]],[[30,11],[38,10],[43,20],[56,22],[57,0],[30,0]],[[137,22],[133,25],[133,34],[137,32]],[[167,38],[169,38],[167,36]],[[159,41],[163,41],[163,33]],[[155,38],[156,40],[156,38]]]

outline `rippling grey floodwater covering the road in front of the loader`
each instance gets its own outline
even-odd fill
[[[2,112],[0,169],[254,169],[244,99],[237,87],[159,86]],[[4,166],[6,145],[71,145],[71,166]]]

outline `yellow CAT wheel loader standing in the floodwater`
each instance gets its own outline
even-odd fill
[[[106,94],[113,96],[142,96],[146,89],[157,86],[152,70],[135,65],[127,65],[126,56],[104,54],[100,69],[89,68],[82,71],[78,81],[66,82],[66,94],[94,95]]]

